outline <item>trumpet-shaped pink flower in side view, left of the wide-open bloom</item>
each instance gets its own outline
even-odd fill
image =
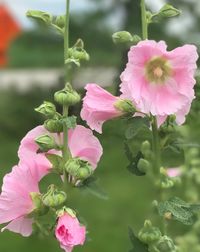
[[[102,133],[102,125],[105,121],[123,114],[115,107],[115,103],[120,98],[113,96],[96,84],[87,84],[85,89],[87,93],[83,99],[81,118],[92,130]]]

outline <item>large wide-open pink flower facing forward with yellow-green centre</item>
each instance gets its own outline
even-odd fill
[[[121,92],[139,111],[162,119],[176,114],[181,124],[194,99],[197,49],[193,45],[166,49],[164,41],[151,40],[131,47],[121,75]]]

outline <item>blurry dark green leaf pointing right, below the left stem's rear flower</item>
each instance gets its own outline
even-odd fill
[[[100,188],[97,183],[97,179],[94,176],[85,179],[81,184],[78,185],[78,188],[83,192],[91,193],[100,199],[108,199],[107,194]]]

